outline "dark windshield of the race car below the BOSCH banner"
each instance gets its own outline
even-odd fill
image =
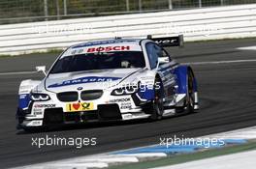
[[[145,62],[142,51],[98,52],[60,58],[49,73],[144,67]]]

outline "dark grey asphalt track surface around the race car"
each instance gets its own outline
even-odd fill
[[[187,43],[169,48],[180,63],[254,60],[256,50],[237,47],[256,45],[256,39]],[[55,128],[39,133],[16,131],[18,85],[22,79],[41,79],[31,71],[37,65],[50,65],[56,55],[27,55],[0,58],[0,168],[14,167],[80,155],[158,144],[160,137],[194,137],[256,126],[256,62],[205,63],[193,65],[199,83],[201,109],[198,113],[148,123],[146,121],[88,124]],[[31,146],[32,137],[96,137],[97,145],[74,147]]]

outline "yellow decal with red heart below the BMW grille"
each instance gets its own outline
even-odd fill
[[[78,103],[67,103],[66,111],[75,112],[75,111],[88,111],[93,110],[93,102],[78,102]]]

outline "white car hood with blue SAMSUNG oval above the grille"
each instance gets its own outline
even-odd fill
[[[46,90],[54,93],[110,88],[142,69],[93,70],[49,74]]]

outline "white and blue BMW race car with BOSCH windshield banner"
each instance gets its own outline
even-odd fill
[[[66,49],[42,81],[19,86],[17,128],[159,120],[199,108],[193,70],[164,49],[182,36],[84,42]]]

